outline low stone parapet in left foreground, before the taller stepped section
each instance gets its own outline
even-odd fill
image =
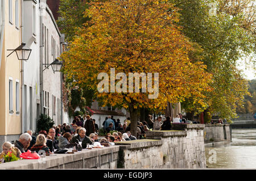
[[[119,146],[82,150],[74,154],[55,154],[40,159],[23,159],[1,163],[1,169],[115,169]]]

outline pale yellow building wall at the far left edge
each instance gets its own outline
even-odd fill
[[[18,60],[18,57],[16,56],[16,53],[14,52],[9,57],[8,54],[11,53],[11,51],[7,51],[7,49],[15,49],[21,44],[21,31],[15,27],[15,0],[13,0],[13,24],[9,22],[9,1],[5,0],[5,46],[3,57],[2,57],[2,65],[1,65],[1,81],[2,81],[2,75],[5,76],[5,83],[3,83],[3,87],[0,87],[1,91],[1,99],[2,94],[5,94],[5,101],[1,102],[3,105],[5,105],[5,108],[1,108],[0,115],[5,114],[5,118],[2,119],[2,116],[0,117],[0,134],[8,135],[8,134],[20,134],[21,133],[21,123],[20,123],[20,113],[16,113],[16,80],[19,81],[19,104],[21,100],[21,92],[20,92],[20,86],[21,86],[21,80],[20,80],[20,60]],[[20,9],[20,3],[19,3],[19,9]],[[19,10],[20,12],[20,10]],[[20,14],[19,14],[19,26],[20,26]],[[3,70],[5,69],[5,70]],[[3,71],[2,71],[3,70]],[[9,112],[9,77],[13,78],[13,113]],[[3,93],[4,92],[4,93]],[[3,113],[4,111],[5,113]],[[19,112],[21,112],[21,107],[19,106]],[[5,121],[5,123],[2,123]],[[3,128],[2,128],[3,127]]]

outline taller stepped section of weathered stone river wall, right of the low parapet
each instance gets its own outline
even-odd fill
[[[125,169],[205,168],[203,124],[175,125],[180,131],[151,131],[143,142],[118,142],[123,145],[118,166]],[[158,139],[158,140],[150,140]],[[119,158],[120,159],[120,158]]]

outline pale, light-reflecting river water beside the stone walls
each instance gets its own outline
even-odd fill
[[[256,129],[232,129],[232,142],[205,145],[208,168],[256,169]]]

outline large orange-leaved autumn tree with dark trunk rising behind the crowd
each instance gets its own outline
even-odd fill
[[[91,20],[84,23],[69,50],[61,55],[65,61],[64,72],[68,77],[74,76],[77,85],[92,87],[103,105],[127,108],[132,134],[137,132],[138,108],[163,110],[167,102],[179,102],[187,96],[204,98],[201,92],[209,88],[210,74],[205,73],[202,62],[189,59],[193,47],[181,33],[181,27],[175,25],[179,14],[170,2],[92,2],[84,15]],[[142,84],[137,87],[139,92],[110,92],[109,87],[99,92],[98,75],[109,74],[111,68],[116,75],[125,73],[127,77],[129,73],[152,73],[152,87],[157,84],[159,87],[157,98],[150,99],[152,93],[148,90],[142,92]],[[154,73],[159,74],[158,83],[154,82]],[[125,77],[120,77],[114,85],[122,81],[120,89],[124,89]]]

